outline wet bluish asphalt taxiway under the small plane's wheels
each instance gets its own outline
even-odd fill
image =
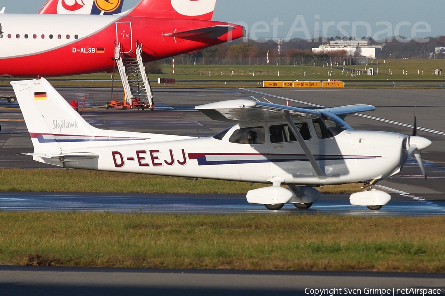
[[[1,211],[78,211],[145,214],[352,215],[363,217],[442,216],[445,201],[393,194],[379,211],[352,206],[348,194],[326,194],[310,209],[286,204],[279,211],[249,204],[245,194],[132,194],[9,192],[0,195]]]

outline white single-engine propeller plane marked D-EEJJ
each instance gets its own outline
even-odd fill
[[[370,105],[304,109],[232,100],[197,106],[211,119],[235,125],[213,137],[193,138],[101,130],[89,125],[44,79],[11,82],[34,145],[28,154],[65,168],[270,183],[247,201],[278,210],[309,208],[321,196],[313,187],[352,182],[364,190],[351,204],[378,210],[391,199],[373,189],[401,170],[431,141],[355,131],[342,118]],[[286,184],[289,188],[281,187]],[[296,186],[304,185],[304,186]]]

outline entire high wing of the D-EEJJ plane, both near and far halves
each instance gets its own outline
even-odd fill
[[[253,122],[253,121],[271,121],[283,118],[286,114],[294,118],[315,119],[321,114],[328,115],[332,113],[341,119],[347,115],[373,111],[371,105],[348,105],[342,107],[323,108],[323,109],[305,109],[278,104],[255,102],[252,100],[231,100],[215,102],[195,107],[207,117],[213,120],[228,122]]]

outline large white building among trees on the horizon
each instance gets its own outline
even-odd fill
[[[321,45],[317,48],[312,48],[313,53],[322,53],[329,51],[346,50],[348,55],[354,55],[356,49],[360,48],[361,55],[364,57],[375,59],[375,55],[382,53],[383,45],[371,45],[366,40],[353,41],[329,41],[328,44]]]

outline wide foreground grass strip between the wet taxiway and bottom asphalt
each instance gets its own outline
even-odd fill
[[[445,272],[445,217],[0,212],[0,264]]]

